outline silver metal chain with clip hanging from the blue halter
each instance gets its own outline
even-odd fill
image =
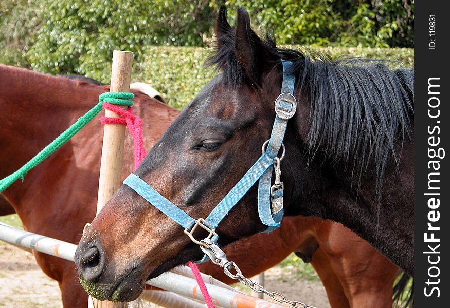
[[[212,263],[217,264],[220,267],[223,267],[224,273],[228,277],[238,280],[239,282],[248,286],[251,290],[253,290],[255,292],[266,294],[271,299],[273,299],[274,301],[277,301],[279,303],[286,303],[286,304],[291,305],[291,307],[296,307],[296,308],[297,307],[315,308],[313,306],[302,303],[300,301],[289,300],[281,293],[278,293],[275,291],[273,291],[273,292],[268,291],[261,284],[251,280],[250,278],[245,277],[242,274],[241,269],[239,269],[238,265],[236,265],[235,262],[228,261],[226,255],[222,251],[222,249],[220,249],[219,246],[217,244],[215,244],[212,240],[204,239],[201,242],[204,243],[205,246],[200,246],[200,249],[202,249],[202,251],[209,256]],[[233,274],[231,271],[233,271],[236,274]]]

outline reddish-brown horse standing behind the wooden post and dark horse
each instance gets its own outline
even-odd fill
[[[0,177],[19,168],[107,90],[3,65],[0,65],[0,85],[0,107],[8,110],[0,115],[3,123]],[[139,92],[135,94],[133,110],[144,120],[144,142],[150,148],[179,112]],[[95,216],[101,139],[102,127],[94,119],[69,143],[32,169],[23,182],[16,181],[3,192],[2,197],[14,206],[25,229],[71,243],[79,241],[84,224]],[[126,143],[123,176],[133,166],[129,137]],[[10,213],[4,198],[0,198],[0,203]],[[248,247],[258,251],[258,258],[252,262],[247,262]],[[273,233],[238,241],[226,251],[247,275],[272,267],[292,251],[301,253],[307,261],[314,254],[312,264],[333,307],[356,307],[364,297],[378,299],[367,307],[392,303],[392,280],[397,267],[340,224],[285,218],[282,227]],[[59,282],[64,306],[84,308],[87,295],[76,278],[75,265],[37,252],[34,255],[43,271]],[[221,268],[209,262],[200,267],[207,274],[231,282],[223,276]]]

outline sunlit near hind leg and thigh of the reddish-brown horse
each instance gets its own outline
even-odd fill
[[[350,307],[392,306],[392,284],[397,266],[341,224],[326,222],[318,234],[319,245],[329,260],[331,271],[338,277]]]

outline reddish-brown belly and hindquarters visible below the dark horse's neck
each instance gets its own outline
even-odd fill
[[[271,234],[257,234],[224,248],[229,260],[248,260],[242,266],[249,277],[278,264],[292,251],[316,269],[331,307],[392,306],[391,286],[398,267],[339,223],[284,217],[280,228]],[[259,262],[261,256],[265,256],[263,263]],[[199,268],[225,283],[236,282],[211,262]]]

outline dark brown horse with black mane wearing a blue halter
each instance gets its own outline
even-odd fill
[[[273,158],[280,180],[283,157],[284,215],[340,222],[412,275],[413,71],[350,57],[314,60],[279,48],[271,36],[262,39],[251,30],[244,8],[238,9],[236,29],[221,8],[215,35],[217,49],[208,63],[221,73],[130,175],[141,189],[122,185],[81,238],[75,263],[85,290],[95,290],[98,299],[133,300],[140,293],[137,285],[202,258],[200,247],[211,253],[211,247],[276,226],[261,222],[258,185],[247,187],[257,181],[257,171],[246,172],[254,165],[269,170],[262,166],[272,166],[266,160]],[[292,67],[283,72],[281,60]],[[293,76],[293,98],[287,95],[289,104],[283,103],[292,119],[284,134],[285,155],[283,150],[277,161],[264,145],[274,119],[284,116],[273,105],[281,106],[276,99],[282,81]],[[228,192],[242,198],[233,199],[234,207],[222,204],[220,217],[215,211],[214,221],[206,222]],[[269,193],[265,196],[269,202]],[[280,204],[275,201],[271,214],[280,213]],[[235,264],[213,258],[240,277]]]

